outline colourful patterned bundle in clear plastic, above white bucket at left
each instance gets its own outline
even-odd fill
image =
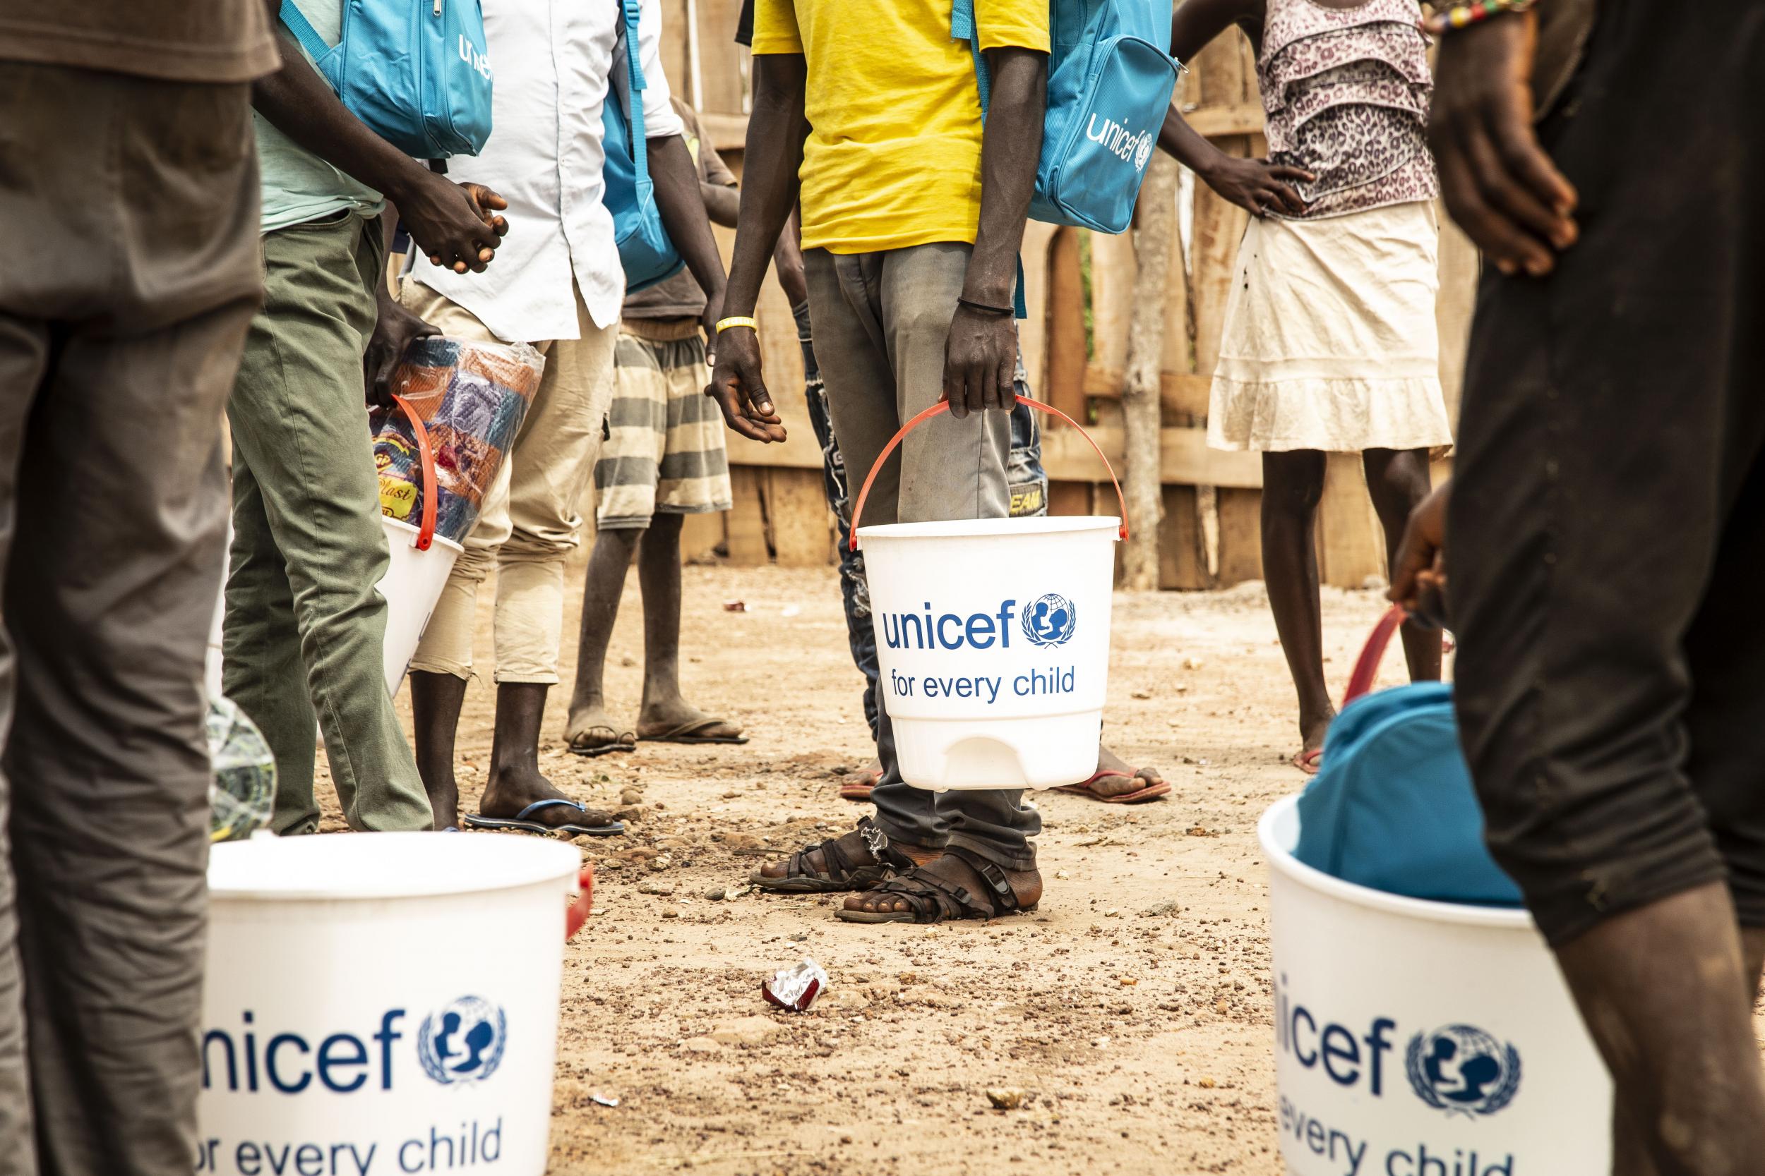
[[[436,534],[466,541],[544,372],[545,356],[528,344],[431,337],[404,351],[390,384],[429,430],[436,458]],[[376,409],[372,427],[379,511],[415,527],[424,517],[417,434],[397,409]]]

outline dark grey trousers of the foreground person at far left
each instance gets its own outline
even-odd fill
[[[0,1176],[187,1176],[245,85],[0,71]]]

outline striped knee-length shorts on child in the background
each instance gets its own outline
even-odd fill
[[[657,511],[729,510],[724,418],[704,395],[708,381],[697,319],[620,324],[607,439],[595,464],[597,527],[648,527]]]

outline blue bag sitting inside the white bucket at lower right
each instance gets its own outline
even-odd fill
[[[1294,857],[1386,894],[1518,906],[1520,887],[1483,845],[1453,688],[1416,682],[1366,693],[1401,621],[1393,608],[1354,668],[1324,762],[1299,797]]]

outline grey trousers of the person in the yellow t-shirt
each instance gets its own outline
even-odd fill
[[[875,254],[812,249],[808,312],[815,360],[845,467],[861,483],[895,430],[943,393],[944,344],[969,264],[969,245],[934,243]],[[1004,518],[1010,413],[943,416],[902,441],[870,487],[863,524]],[[877,716],[882,781],[870,793],[890,841],[960,848],[1006,869],[1034,869],[1041,815],[1018,788],[927,792],[902,781],[888,705]]]

